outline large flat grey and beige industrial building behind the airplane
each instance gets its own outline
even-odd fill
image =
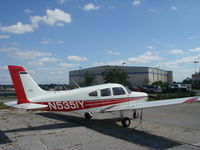
[[[120,68],[125,71],[129,78],[128,81],[131,85],[150,85],[156,81],[167,82],[172,84],[173,72],[166,71],[159,68],[152,67],[135,67],[135,66],[99,66],[86,69],[79,69],[69,72],[69,85],[75,85],[76,83],[84,82],[84,75],[86,73],[95,75],[94,84],[104,83],[102,73],[109,68]]]

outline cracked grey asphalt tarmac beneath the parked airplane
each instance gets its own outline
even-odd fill
[[[142,123],[132,120],[129,128],[118,112],[93,115],[0,110],[0,149],[200,149],[200,103],[144,109]]]

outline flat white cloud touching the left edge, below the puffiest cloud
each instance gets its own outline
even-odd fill
[[[0,31],[12,34],[24,34],[28,32],[33,32],[34,28],[30,24],[23,24],[21,22],[18,22],[15,25],[0,26]]]

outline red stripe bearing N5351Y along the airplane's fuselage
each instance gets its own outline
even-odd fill
[[[130,101],[141,100],[145,97],[137,98],[121,98],[121,99],[111,99],[111,100],[94,100],[94,101],[53,101],[53,102],[37,102],[37,104],[48,105],[47,108],[43,109],[46,111],[76,111],[90,108],[97,108],[103,106],[110,106],[114,104],[120,104]]]

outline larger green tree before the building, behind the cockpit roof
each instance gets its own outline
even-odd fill
[[[127,81],[129,78],[128,74],[120,68],[113,67],[107,68],[103,72],[103,79],[105,83],[119,83],[125,86],[130,85],[130,82]]]

